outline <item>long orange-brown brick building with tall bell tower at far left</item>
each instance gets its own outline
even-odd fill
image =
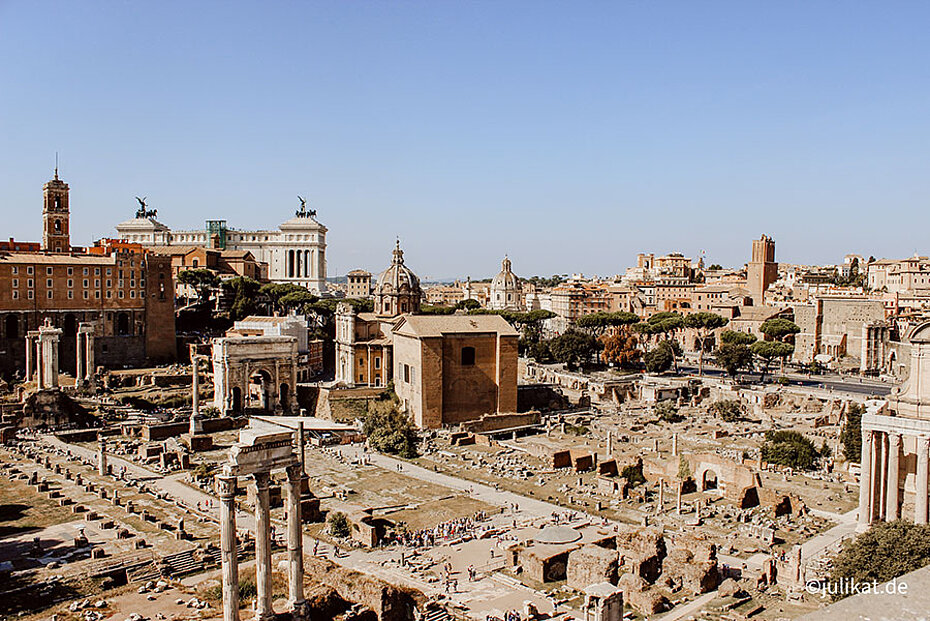
[[[0,252],[0,373],[25,368],[25,336],[46,319],[64,334],[61,369],[73,372],[78,326],[95,332],[103,366],[142,365],[175,358],[174,285],[167,257],[112,250],[72,252],[68,185],[43,188],[43,236],[38,252]]]

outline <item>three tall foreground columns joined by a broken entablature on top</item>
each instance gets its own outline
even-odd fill
[[[254,424],[254,421],[253,421]],[[223,562],[223,621],[239,621],[239,560],[236,545],[236,489],[240,477],[251,479],[255,497],[255,620],[270,621],[271,605],[271,473],[287,473],[288,603],[295,619],[306,614],[303,595],[303,532],[300,486],[303,469],[294,452],[292,433],[249,427],[229,450],[222,474],[216,477],[220,498],[220,548]]]

